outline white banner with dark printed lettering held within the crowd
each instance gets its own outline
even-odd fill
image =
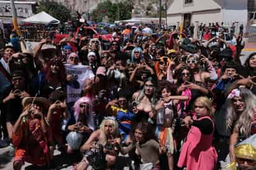
[[[66,85],[66,102],[75,102],[80,98],[81,91],[85,87],[86,79],[94,77],[93,71],[89,69],[89,66],[84,65],[65,65],[66,74],[72,74],[75,77],[75,81]]]

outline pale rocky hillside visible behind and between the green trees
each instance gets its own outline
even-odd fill
[[[24,0],[18,0],[24,1]],[[31,1],[31,0],[25,0]],[[39,1],[40,0],[34,0]],[[103,2],[105,0],[50,0],[57,1],[63,4],[64,6],[71,9],[71,11],[79,11],[80,13],[88,13],[93,11],[96,8],[99,2]],[[112,2],[122,1],[122,0],[111,0]],[[133,16],[157,16],[158,12],[158,3],[159,0],[129,0],[134,2],[134,10]],[[162,4],[165,3],[165,0],[162,0]]]

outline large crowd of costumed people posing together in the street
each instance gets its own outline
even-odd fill
[[[55,150],[80,156],[74,170],[256,168],[256,53],[240,61],[242,34],[229,45],[140,25],[112,32],[108,50],[70,32],[33,51],[16,36],[0,60],[0,145],[15,170],[54,169]]]

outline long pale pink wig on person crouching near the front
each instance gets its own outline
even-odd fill
[[[88,119],[87,119],[87,123],[88,123],[88,127],[91,130],[94,130],[94,115],[93,115],[93,102],[91,101],[91,99],[89,99],[89,97],[81,97],[80,99],[78,99],[75,104],[74,104],[74,109],[75,109],[75,120],[76,122],[79,119],[79,115],[80,115],[80,104],[86,103],[89,105],[89,113],[88,114]]]

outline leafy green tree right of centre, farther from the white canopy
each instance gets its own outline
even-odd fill
[[[92,12],[91,16],[96,21],[102,21],[104,17],[108,16],[110,22],[115,20],[130,19],[132,16],[133,1],[119,1],[112,3],[107,0],[99,2],[96,9]]]

